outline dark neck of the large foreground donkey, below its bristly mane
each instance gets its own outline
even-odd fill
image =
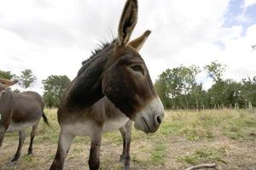
[[[86,61],[77,77],[67,88],[65,106],[72,110],[83,110],[102,99],[102,73],[111,57],[113,45]]]

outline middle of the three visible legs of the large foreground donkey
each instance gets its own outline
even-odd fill
[[[100,168],[100,150],[102,144],[102,127],[96,127],[95,133],[90,138],[90,158],[88,161],[90,170]]]

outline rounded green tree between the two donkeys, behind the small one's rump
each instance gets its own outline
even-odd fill
[[[61,96],[64,94],[70,80],[67,76],[51,75],[43,80],[44,84],[44,103],[48,107],[58,107]]]

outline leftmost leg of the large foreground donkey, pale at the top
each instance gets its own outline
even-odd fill
[[[74,137],[75,136],[73,134],[61,130],[55,160],[51,164],[49,168],[50,170],[61,170],[63,168],[67,152],[70,148],[70,145],[72,144]]]

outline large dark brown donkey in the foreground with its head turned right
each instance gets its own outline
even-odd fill
[[[150,31],[129,42],[136,24],[137,0],[127,0],[119,21],[119,37],[96,49],[67,87],[58,110],[61,133],[50,170],[63,168],[75,136],[90,137],[89,167],[99,169],[102,133],[118,128],[124,139],[120,160],[129,169],[130,119],[145,133],[154,133],[160,126],[164,108],[138,54]]]

